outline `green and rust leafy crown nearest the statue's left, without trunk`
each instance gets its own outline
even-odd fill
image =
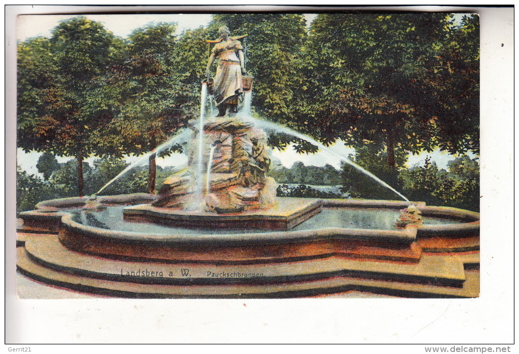
[[[121,63],[93,81],[89,110],[108,119],[91,139],[105,155],[121,157],[151,151],[176,128],[167,105],[170,96],[168,52],[175,26],[148,25],[132,32]]]

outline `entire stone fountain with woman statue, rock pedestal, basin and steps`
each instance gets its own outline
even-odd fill
[[[205,114],[210,81],[202,84],[187,167],[157,196],[98,193],[21,213],[18,271],[118,297],[477,296],[479,273],[470,269],[479,267],[479,213],[421,202],[276,197],[267,134],[238,110],[243,91],[250,95],[239,84],[241,44],[228,29],[220,32],[212,57],[223,56],[232,75],[223,77],[218,66],[209,90],[217,116]],[[238,83],[234,94],[222,97],[230,84],[218,80]]]

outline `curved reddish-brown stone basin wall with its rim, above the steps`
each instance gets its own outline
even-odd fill
[[[139,194],[99,198],[107,205],[126,205],[149,202],[152,197]],[[183,233],[180,229],[171,230],[168,234],[167,227],[163,233],[146,232],[146,224],[143,224],[142,220],[135,224],[142,228],[140,232],[80,223],[70,210],[86,200],[67,198],[42,202],[37,206],[37,210],[23,212],[20,217],[24,221],[24,226],[28,227],[38,225],[41,228],[47,222],[50,225],[49,232],[59,233],[60,242],[74,251],[122,259],[167,262],[251,264],[274,260],[291,262],[330,255],[418,262],[421,249],[417,246],[417,241],[420,238],[479,237],[478,213],[454,208],[427,207],[424,203],[417,203],[423,215],[442,217],[445,219],[443,222],[449,223],[421,225],[418,228],[411,226],[401,230],[333,227],[331,222],[327,223],[326,214],[323,214],[324,226],[316,224],[315,227],[307,229],[301,224],[292,230],[276,232],[256,228],[247,230],[246,233],[243,230],[223,230],[223,233],[214,234],[208,233],[207,229],[197,229],[192,233]],[[302,210],[308,211],[307,219],[312,213],[320,210],[326,213],[347,209],[369,211],[382,208],[396,212],[406,207],[405,202],[380,200],[310,199],[302,202],[305,202],[303,206],[306,206]],[[130,211],[131,214],[139,208],[149,210],[148,207],[149,204],[147,207],[129,206],[125,208],[125,213]],[[139,213],[141,211],[139,210]],[[250,216],[252,215],[254,214]],[[142,217],[142,213],[138,216]],[[224,215],[206,216],[220,218]],[[239,219],[242,215],[225,216],[229,218],[228,222],[234,222],[233,220]],[[214,221],[205,221],[209,222],[210,227],[218,227]],[[312,219],[308,220],[311,221]],[[167,219],[166,223],[174,224],[174,221]]]

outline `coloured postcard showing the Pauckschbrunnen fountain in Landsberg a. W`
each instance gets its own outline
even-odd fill
[[[474,301],[480,22],[19,15],[17,297]]]

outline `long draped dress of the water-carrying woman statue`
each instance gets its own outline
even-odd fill
[[[237,104],[237,101],[230,101],[235,101],[243,93],[240,60],[236,55],[238,50],[243,50],[239,40],[220,42],[213,47],[214,57],[218,58],[213,88],[216,105],[224,102]]]

